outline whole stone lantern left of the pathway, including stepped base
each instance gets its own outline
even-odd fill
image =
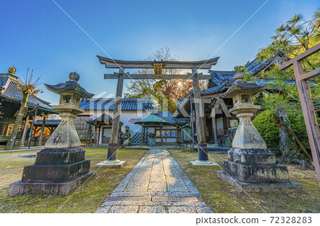
[[[80,98],[93,96],[78,84],[79,78],[79,74],[73,72],[65,83],[45,84],[49,91],[60,95],[59,105],[53,109],[59,112],[61,122],[46,142],[45,149],[37,153],[35,164],[24,166],[21,181],[11,183],[9,196],[68,195],[94,174],[73,124],[77,114],[83,112]]]

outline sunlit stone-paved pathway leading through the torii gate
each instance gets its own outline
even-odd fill
[[[166,148],[149,149],[95,213],[212,213]]]

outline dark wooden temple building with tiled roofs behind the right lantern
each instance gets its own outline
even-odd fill
[[[252,60],[245,69],[248,74],[252,77],[252,80],[259,85],[269,84],[272,79],[260,78],[262,72],[266,72],[272,65],[281,64],[287,60],[281,54],[274,55],[267,60],[259,60],[256,58]],[[233,101],[231,98],[220,98],[219,95],[225,93],[230,86],[235,82],[233,81],[233,76],[236,71],[208,71],[212,78],[208,81],[208,89],[201,90],[201,99],[204,105],[204,115],[203,120],[205,128],[206,142],[213,143],[220,146],[230,146],[233,140],[233,136],[238,127],[238,119],[235,115],[230,115],[227,113],[227,109],[233,108]],[[257,79],[258,78],[258,79]],[[255,80],[257,79],[257,80]],[[294,84],[294,81],[288,81],[287,84]],[[274,89],[270,86],[267,89]],[[222,100],[222,101],[221,101]],[[174,113],[175,118],[192,118],[190,121],[195,121],[195,107],[193,101],[193,91],[191,90],[185,98],[182,98],[177,103],[177,111]],[[257,111],[254,117],[261,113],[263,110]],[[191,113],[193,112],[193,113]],[[186,113],[188,113],[186,115]],[[253,117],[253,118],[254,118]],[[252,118],[252,119],[253,119]],[[193,124],[193,125],[192,125]],[[196,123],[191,123],[193,126],[194,137],[196,137]]]

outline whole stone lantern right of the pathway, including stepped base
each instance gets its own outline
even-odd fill
[[[248,83],[243,77],[242,73],[235,74],[235,83],[220,95],[233,98],[233,108],[229,111],[239,118],[239,125],[233,147],[228,151],[228,160],[223,160],[223,171],[218,171],[218,177],[245,191],[301,190],[299,183],[289,181],[287,166],[277,164],[275,154],[267,149],[251,122],[253,113],[261,108],[253,103],[253,95],[267,85]]]

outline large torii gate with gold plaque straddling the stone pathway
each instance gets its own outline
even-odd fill
[[[211,79],[210,74],[198,73],[198,69],[210,69],[217,64],[219,57],[201,61],[127,61],[112,60],[106,57],[97,56],[101,64],[105,64],[107,69],[119,69],[114,74],[105,74],[105,79],[117,79],[117,91],[114,100],[114,115],[108,147],[107,161],[97,164],[97,166],[123,166],[124,161],[117,159],[119,119],[121,114],[121,99],[124,79],[193,79],[193,92],[196,106],[196,126],[198,137],[198,160],[193,164],[214,165],[208,159],[205,131],[203,127],[203,109],[201,108],[201,96],[199,79]],[[154,74],[129,74],[125,69],[154,69]],[[187,74],[162,74],[162,69],[191,69],[192,73]]]

